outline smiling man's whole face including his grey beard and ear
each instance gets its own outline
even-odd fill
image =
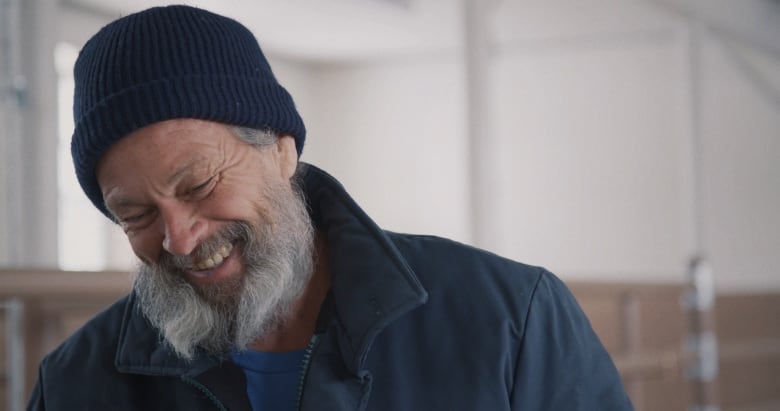
[[[308,281],[311,223],[291,137],[258,148],[193,119],[142,128],[101,159],[108,209],[141,259],[142,309],[184,357],[244,348]]]

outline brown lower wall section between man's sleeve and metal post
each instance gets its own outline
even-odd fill
[[[681,285],[570,282],[636,411],[686,410]]]

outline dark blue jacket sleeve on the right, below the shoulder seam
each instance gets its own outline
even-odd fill
[[[543,273],[531,297],[513,410],[633,410],[620,375],[568,288]]]

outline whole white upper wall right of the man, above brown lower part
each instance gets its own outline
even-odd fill
[[[662,17],[497,50],[492,129],[514,212],[493,251],[618,281],[683,281],[702,252],[721,290],[780,289],[776,56],[748,55],[762,91],[711,31],[692,55],[693,27]],[[387,228],[471,242],[459,57],[312,69],[303,159]]]

